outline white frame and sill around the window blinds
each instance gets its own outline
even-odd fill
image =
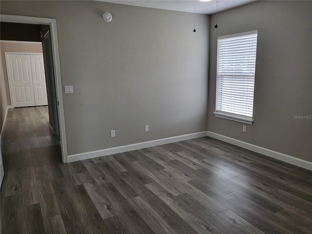
[[[232,35],[226,35],[226,36],[220,36],[217,38],[216,90],[215,90],[215,112],[214,112],[215,117],[229,119],[229,120],[233,120],[233,121],[237,121],[237,122],[241,122],[241,123],[246,123],[246,124],[253,124],[253,122],[254,122],[254,119],[253,119],[253,117],[254,117],[254,100],[253,100],[253,116],[252,117],[217,110],[217,107],[218,107],[218,88],[219,88],[218,87],[218,83],[219,83],[218,66],[219,66],[219,52],[220,52],[219,40],[220,39],[247,36],[247,35],[253,35],[253,34],[257,34],[257,36],[258,36],[258,30],[244,32],[244,33],[237,33],[237,34],[232,34]],[[254,74],[254,78],[255,78],[255,74]],[[253,95],[253,97],[254,97],[254,95]]]

